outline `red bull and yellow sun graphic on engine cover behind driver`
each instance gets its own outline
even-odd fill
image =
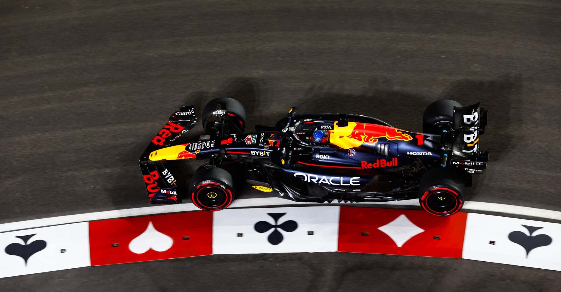
[[[413,137],[407,133],[403,133],[396,128],[383,126],[379,124],[355,123],[349,122],[346,127],[337,126],[329,135],[329,142],[343,149],[350,149],[361,146],[362,143],[374,145],[380,138],[386,140],[411,141]]]

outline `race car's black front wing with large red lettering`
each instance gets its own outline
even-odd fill
[[[169,117],[140,156],[140,171],[151,203],[181,203],[181,196],[177,195],[177,180],[168,170],[165,160],[151,161],[148,156],[153,151],[170,146],[196,123],[195,107],[182,106]]]

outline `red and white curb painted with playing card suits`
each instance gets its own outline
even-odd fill
[[[561,271],[561,224],[351,206],[91,220],[7,231],[0,233],[0,244],[2,277],[209,254],[335,251],[466,258]]]

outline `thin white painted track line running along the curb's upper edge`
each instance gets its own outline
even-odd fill
[[[266,198],[246,198],[242,200],[234,201],[231,207],[267,207],[267,206],[278,206],[278,205],[316,205],[310,203],[298,203],[294,201],[285,200],[283,198],[277,197],[266,197]],[[325,205],[327,204],[319,204]],[[335,204],[335,205],[346,205],[350,204]],[[366,202],[366,203],[353,203],[350,206],[364,206],[364,205],[390,205],[390,206],[419,206],[419,201],[417,200],[406,200],[406,201],[390,201],[390,202]],[[60,225],[68,223],[77,223],[84,221],[94,221],[103,219],[113,219],[121,217],[135,217],[135,216],[145,216],[154,214],[166,214],[174,212],[186,212],[186,211],[196,211],[199,210],[192,203],[183,203],[178,205],[160,205],[142,208],[131,208],[113,211],[103,211],[103,212],[93,212],[85,214],[58,216],[42,219],[34,219],[20,222],[4,223],[0,224],[0,232],[21,230],[29,228],[37,228],[42,226]],[[485,203],[485,202],[473,202],[467,201],[466,205],[462,210],[471,211],[488,211],[488,212],[498,212],[505,214],[514,214],[522,216],[534,216],[547,219],[561,220],[561,212],[553,210],[544,210],[538,208],[530,208],[523,206],[514,205],[504,205],[498,203]]]

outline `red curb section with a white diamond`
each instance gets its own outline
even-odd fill
[[[467,213],[437,217],[417,210],[342,206],[338,250],[461,258],[466,220]]]

